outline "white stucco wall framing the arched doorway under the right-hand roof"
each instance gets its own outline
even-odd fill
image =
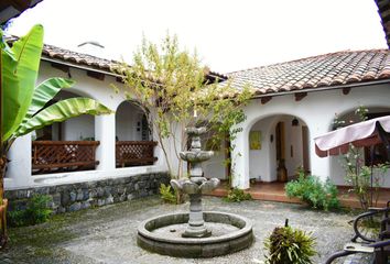
[[[259,120],[279,114],[297,117],[307,125],[310,132],[311,172],[323,179],[329,177],[332,175],[331,158],[316,156],[313,139],[329,131],[335,113],[350,111],[360,105],[388,107],[390,105],[389,88],[389,85],[386,84],[356,87],[348,95],[343,95],[340,89],[308,92],[301,101],[295,101],[293,95],[285,95],[273,97],[266,105],[262,105],[260,100],[252,100],[245,107],[247,120],[239,125],[243,131],[234,142],[236,144],[232,153],[236,163],[234,184],[241,188],[249,187],[250,152],[248,136],[252,125]]]

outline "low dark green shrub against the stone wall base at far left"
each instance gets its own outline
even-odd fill
[[[33,226],[46,222],[53,210],[48,208],[52,198],[47,195],[33,195],[24,210],[17,209],[8,212],[10,227]]]

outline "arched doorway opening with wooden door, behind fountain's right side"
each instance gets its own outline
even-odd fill
[[[297,169],[310,172],[308,128],[297,117],[260,119],[251,127],[248,142],[251,182],[286,182],[296,178]],[[281,169],[285,178],[281,178]]]

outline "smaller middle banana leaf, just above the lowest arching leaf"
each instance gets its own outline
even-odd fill
[[[74,84],[74,80],[65,78],[50,78],[40,84],[34,90],[31,105],[22,123],[28,122],[35,113],[44,108],[44,106],[52,100],[61,89],[69,88]]]

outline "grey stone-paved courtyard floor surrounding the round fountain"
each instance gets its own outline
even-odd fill
[[[10,229],[11,241],[0,252],[0,263],[263,263],[263,240],[274,227],[282,226],[285,218],[292,227],[313,232],[319,252],[315,263],[324,263],[332,252],[343,248],[353,232],[348,224],[353,213],[322,212],[301,205],[259,200],[228,204],[206,197],[205,210],[238,213],[254,222],[256,242],[250,249],[208,260],[184,260],[149,253],[137,246],[137,227],[142,220],[187,209],[188,204],[163,205],[158,197],[151,197],[55,216],[44,224]]]

